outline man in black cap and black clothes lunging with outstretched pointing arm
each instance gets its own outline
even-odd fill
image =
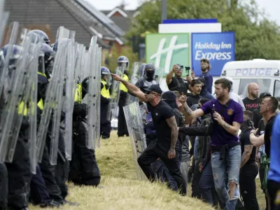
[[[158,134],[158,140],[149,144],[146,150],[138,158],[138,163],[144,174],[150,181],[155,181],[156,176],[151,163],[158,158],[165,163],[170,174],[175,179],[181,195],[186,195],[186,181],[179,168],[179,154],[175,147],[178,139],[178,130],[174,111],[165,102],[162,101],[162,90],[159,85],[151,85],[146,90],[146,94],[141,92],[138,87],[123,80],[120,76],[111,73],[115,80],[122,82],[127,89],[138,97],[141,101],[147,102],[151,108],[152,118],[155,130]]]

